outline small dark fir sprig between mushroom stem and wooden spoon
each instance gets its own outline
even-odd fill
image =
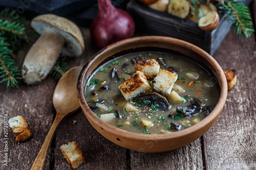
[[[50,75],[52,75],[56,80],[59,80],[67,70],[68,65],[61,60],[57,60],[55,65],[52,67],[52,70],[50,71]]]

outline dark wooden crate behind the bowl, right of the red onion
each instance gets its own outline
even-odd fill
[[[170,14],[172,13],[172,11],[168,10],[176,10],[175,6],[177,5],[177,3],[183,3],[181,0],[175,0],[176,4],[170,4],[170,2],[174,0],[147,0],[159,4],[161,1],[161,3],[163,4],[160,5],[156,3],[153,3],[151,5],[145,5],[142,3],[143,1],[145,0],[131,0],[127,4],[127,11],[129,11],[129,13],[133,16],[135,20],[136,32],[138,34],[168,36],[181,39],[199,46],[210,55],[214,55],[215,51],[221,44],[222,40],[229,33],[232,26],[232,21],[225,19],[226,14],[218,12],[219,23],[217,28],[211,31],[205,31],[207,30],[207,28],[203,28],[204,30],[202,28],[200,29],[199,24],[197,23],[199,18],[198,15],[200,14],[197,14],[194,17],[189,17],[182,16],[183,13],[180,12],[180,14],[178,15],[181,15],[181,17],[184,18]],[[251,0],[239,2],[242,2],[246,6],[248,6]],[[212,7],[207,8],[212,9]],[[182,7],[182,10],[187,11],[190,9],[186,9],[186,7],[184,6],[184,8]]]

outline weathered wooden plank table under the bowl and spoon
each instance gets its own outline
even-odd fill
[[[252,15],[255,2],[251,4]],[[254,20],[255,23],[255,20]],[[80,58],[67,58],[69,66],[83,66],[98,49],[91,44],[89,29],[82,28],[86,50]],[[26,50],[19,52],[21,66]],[[256,44],[255,35],[239,39],[231,31],[214,58],[223,68],[234,68],[238,82],[228,92],[225,107],[217,122],[196,141],[166,153],[139,153],[119,147],[101,136],[81,110],[63,120],[53,139],[44,169],[72,169],[59,147],[77,141],[86,157],[78,169],[256,169]],[[30,169],[56,112],[52,94],[56,81],[49,76],[42,83],[7,90],[0,84],[0,169]],[[15,143],[11,128],[4,139],[4,114],[7,118],[23,115],[33,138]],[[8,144],[5,145],[4,141]],[[7,166],[4,164],[8,153]]]

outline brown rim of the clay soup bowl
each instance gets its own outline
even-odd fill
[[[140,134],[140,133],[135,133],[135,132],[130,132],[126,130],[119,129],[117,127],[114,127],[108,123],[105,123],[103,120],[98,118],[98,116],[89,108],[87,105],[86,99],[84,97],[84,89],[83,89],[83,83],[84,83],[84,78],[86,76],[86,71],[88,68],[92,65],[92,62],[100,57],[102,53],[108,53],[111,50],[118,48],[120,46],[123,46],[127,43],[134,43],[134,42],[142,42],[142,41],[156,41],[156,42],[167,42],[167,43],[172,43],[176,44],[179,46],[182,46],[184,48],[188,48],[190,51],[194,51],[197,53],[199,56],[203,57],[204,59],[207,60],[207,62],[210,63],[210,65],[216,70],[216,73],[219,77],[219,84],[220,84],[220,98],[218,100],[218,103],[216,104],[215,108],[211,111],[211,114],[207,115],[204,119],[202,119],[198,124],[193,125],[187,129],[183,129],[181,131],[177,132],[172,132],[168,134]],[[126,49],[127,50],[127,49]],[[92,72],[90,72],[91,74]],[[78,81],[77,81],[77,92],[78,92],[78,99],[80,102],[81,107],[85,106],[89,112],[84,113],[87,117],[89,116],[90,119],[92,119],[93,122],[95,122],[96,125],[102,126],[101,128],[104,129],[104,131],[114,133],[116,136],[120,136],[122,138],[129,138],[131,139],[144,139],[144,140],[169,140],[169,139],[174,139],[174,138],[180,138],[181,136],[186,136],[191,133],[196,133],[198,130],[201,128],[205,127],[207,124],[212,122],[214,120],[214,123],[216,122],[217,118],[219,117],[225,102],[227,98],[227,81],[224,75],[224,71],[219,65],[219,63],[212,57],[210,56],[207,52],[202,50],[200,47],[191,44],[189,42],[176,39],[176,38],[171,38],[171,37],[164,37],[164,36],[140,36],[140,37],[134,37],[134,38],[129,38],[125,40],[118,41],[116,43],[113,43],[109,46],[106,46],[102,48],[99,52],[97,52],[93,57],[83,66]],[[208,129],[207,129],[208,130]]]

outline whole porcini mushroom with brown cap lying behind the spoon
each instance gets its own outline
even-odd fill
[[[60,52],[78,57],[84,51],[80,29],[71,20],[53,14],[32,19],[31,27],[41,36],[31,46],[22,67],[22,77],[27,84],[46,78]]]

